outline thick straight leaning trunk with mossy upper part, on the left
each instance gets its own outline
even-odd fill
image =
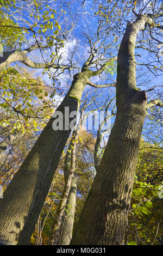
[[[92,73],[91,73],[92,74]],[[74,76],[58,107],[67,123],[65,107],[78,111],[78,102],[90,77],[86,70]],[[69,119],[69,117],[68,117]],[[72,118],[70,118],[71,120]],[[69,120],[69,121],[70,121]],[[53,130],[51,118],[0,199],[0,243],[28,245],[71,130]]]

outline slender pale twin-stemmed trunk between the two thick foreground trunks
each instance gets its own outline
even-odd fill
[[[64,168],[64,178],[65,178],[65,188],[61,197],[61,202],[59,203],[57,209],[57,220],[54,220],[53,227],[51,230],[51,235],[49,237],[49,244],[53,245],[54,240],[60,245],[69,245],[74,221],[74,212],[76,206],[76,193],[77,193],[77,178],[75,176],[76,168],[76,141],[78,139],[79,130],[82,126],[83,113],[85,106],[81,110],[80,120],[76,127],[74,127],[73,134],[71,137],[71,142],[68,147],[65,156],[65,168]],[[71,177],[70,177],[71,176]],[[71,184],[70,184],[71,178]],[[67,196],[68,192],[68,196]],[[66,201],[65,201],[66,200]],[[67,205],[67,206],[66,206]],[[66,210],[65,210],[66,209]]]

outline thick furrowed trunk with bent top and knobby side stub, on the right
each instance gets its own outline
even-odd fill
[[[137,32],[150,23],[140,15],[123,36],[117,59],[117,115],[101,164],[70,245],[122,245],[133,188],[147,96],[136,88]]]

